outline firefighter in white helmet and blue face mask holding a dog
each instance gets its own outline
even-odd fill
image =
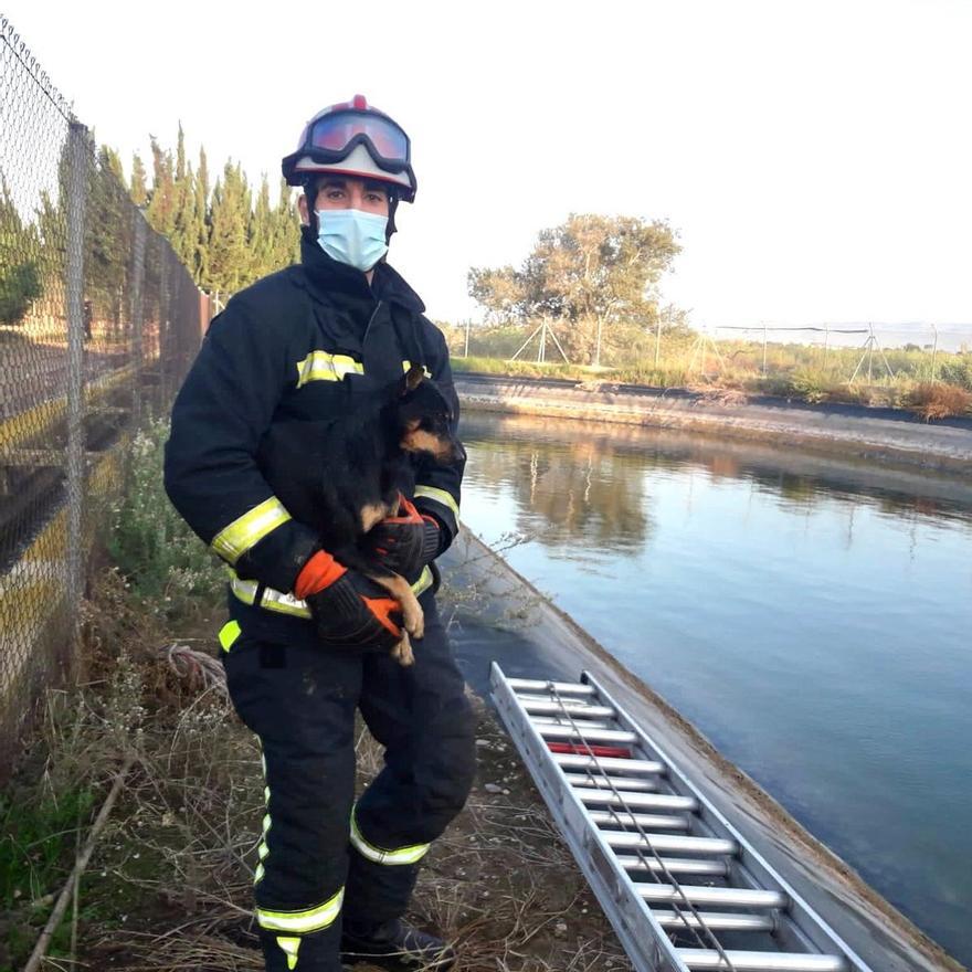
[[[457,530],[464,461],[420,463],[419,516],[369,533],[425,612],[410,668],[389,655],[398,605],[321,549],[255,462],[275,418],[347,414],[414,363],[458,415],[445,340],[385,262],[398,204],[415,198],[409,138],[357,95],[307,124],[283,172],[304,189],[300,264],[236,294],[210,325],[172,409],[166,489],[229,566],[221,654],[266,782],[254,897],[267,972],[448,969],[451,945],[403,915],[475,765],[430,569]],[[357,802],[356,710],[384,747]]]

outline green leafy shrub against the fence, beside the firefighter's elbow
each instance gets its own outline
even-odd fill
[[[219,560],[190,530],[162,486],[166,420],[136,433],[125,495],[113,507],[108,552],[135,593],[159,610],[213,598],[225,578]],[[168,605],[168,609],[167,609]]]

